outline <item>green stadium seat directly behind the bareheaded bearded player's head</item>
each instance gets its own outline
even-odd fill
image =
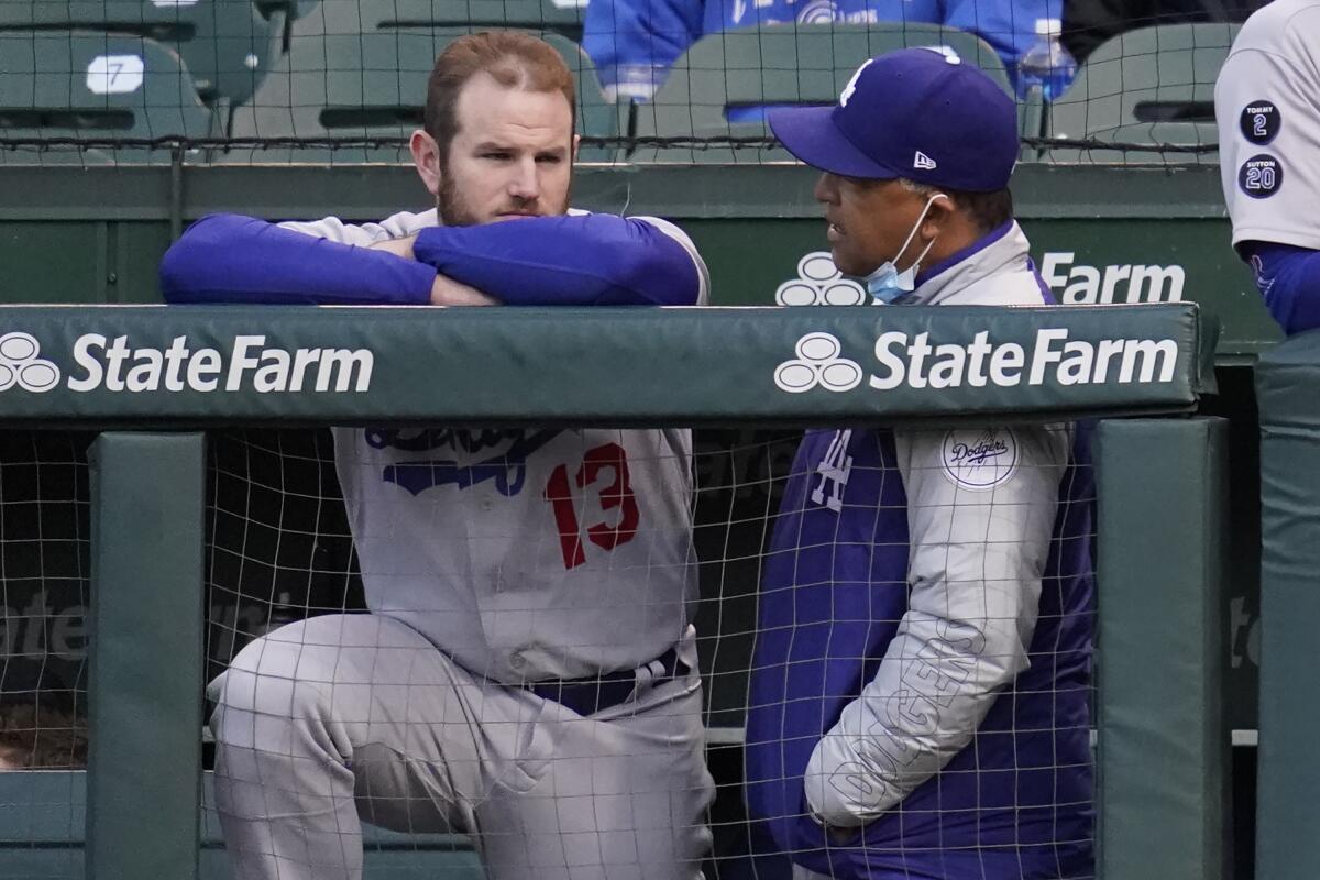
[[[407,146],[333,146],[325,141],[401,139],[420,128],[426,79],[436,55],[471,28],[397,28],[342,33],[326,21],[330,0],[298,21],[288,54],[268,73],[251,102],[234,111],[230,135],[249,139],[321,141],[306,146],[246,149],[238,144],[226,162],[408,162]],[[595,67],[582,49],[558,34],[544,34],[574,73],[578,132],[615,137],[620,107],[601,92]],[[606,161],[611,149],[583,148],[581,161]]]

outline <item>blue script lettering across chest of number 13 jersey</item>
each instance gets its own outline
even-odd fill
[[[367,429],[366,439],[375,449],[397,449],[413,453],[434,449],[480,453],[504,447],[503,451],[470,464],[453,459],[387,464],[381,479],[408,489],[414,496],[437,486],[457,486],[459,489],[466,489],[494,480],[495,489],[500,495],[513,497],[523,491],[523,484],[527,480],[527,459],[532,453],[558,437],[560,433],[558,430],[467,431],[461,429],[422,429],[405,433],[393,429]]]

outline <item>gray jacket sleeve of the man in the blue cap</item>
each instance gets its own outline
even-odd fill
[[[828,825],[865,825],[896,806],[972,741],[999,690],[1027,669],[1072,434],[1071,425],[894,433],[908,497],[908,610],[875,678],[808,764],[807,800]],[[949,463],[949,443],[972,450],[968,464]],[[829,785],[841,767],[876,777],[849,790],[883,794],[862,801]]]

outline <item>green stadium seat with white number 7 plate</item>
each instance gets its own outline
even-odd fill
[[[180,57],[139,37],[73,32],[0,33],[0,139],[61,140],[41,153],[0,150],[0,162],[169,160],[145,146],[78,152],[78,141],[207,137],[202,104]]]

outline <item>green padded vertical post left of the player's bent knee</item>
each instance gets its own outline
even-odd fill
[[[205,449],[102,434],[88,455],[88,880],[197,875]]]

